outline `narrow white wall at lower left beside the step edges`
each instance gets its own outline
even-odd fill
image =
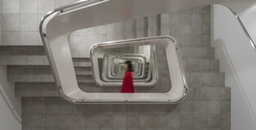
[[[0,129],[21,130],[21,101],[14,84],[7,82],[7,67],[0,66]]]

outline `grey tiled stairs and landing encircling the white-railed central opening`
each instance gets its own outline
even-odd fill
[[[71,104],[60,98],[42,45],[1,45],[0,65],[7,65],[8,81],[15,83],[15,96],[22,98],[23,130],[230,129],[231,90],[225,87],[224,74],[219,72],[218,59],[210,47],[210,6],[74,32],[70,46],[79,87],[86,92],[119,92],[118,88],[100,89],[94,84],[88,45],[158,35],[179,41],[189,93],[176,105]],[[170,85],[166,63],[161,62],[163,51],[156,51],[161,83],[137,92],[170,89],[166,87]]]

